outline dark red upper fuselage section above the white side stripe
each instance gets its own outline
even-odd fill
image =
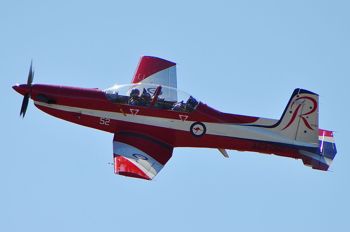
[[[137,115],[180,120],[179,114],[181,114],[188,116],[187,121],[240,124],[253,123],[259,119],[258,117],[222,113],[202,102],[193,114],[173,110],[150,110],[147,107],[112,103],[107,99],[103,90],[100,89],[35,84],[30,98],[39,101],[37,99],[38,94],[44,94],[46,97],[56,100],[57,104],[62,106],[110,111],[119,114],[121,114],[120,109],[123,109],[127,115],[132,115],[130,109],[138,109]]]

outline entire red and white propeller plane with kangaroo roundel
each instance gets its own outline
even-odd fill
[[[176,63],[142,56],[131,84],[101,90],[34,84],[12,88],[54,117],[114,134],[114,173],[152,180],[174,147],[251,151],[301,159],[327,171],[336,154],[333,132],[318,128],[318,95],[293,91],[279,120],[228,114],[177,89]]]

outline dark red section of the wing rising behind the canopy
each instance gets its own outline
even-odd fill
[[[139,83],[147,77],[175,65],[176,64],[174,62],[169,60],[152,56],[142,56],[139,64],[137,65],[131,84]]]

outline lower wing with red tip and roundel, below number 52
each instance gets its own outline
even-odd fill
[[[152,180],[172,157],[173,149],[147,135],[116,132],[113,138],[114,173]]]

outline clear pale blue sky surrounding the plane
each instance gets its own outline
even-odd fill
[[[347,1],[0,3],[1,231],[346,231]],[[113,174],[110,133],[51,117],[11,86],[109,88],[142,55],[174,61],[178,87],[218,110],[279,118],[294,88],[320,94],[338,131],[331,170],[251,152],[175,148],[144,181]]]

